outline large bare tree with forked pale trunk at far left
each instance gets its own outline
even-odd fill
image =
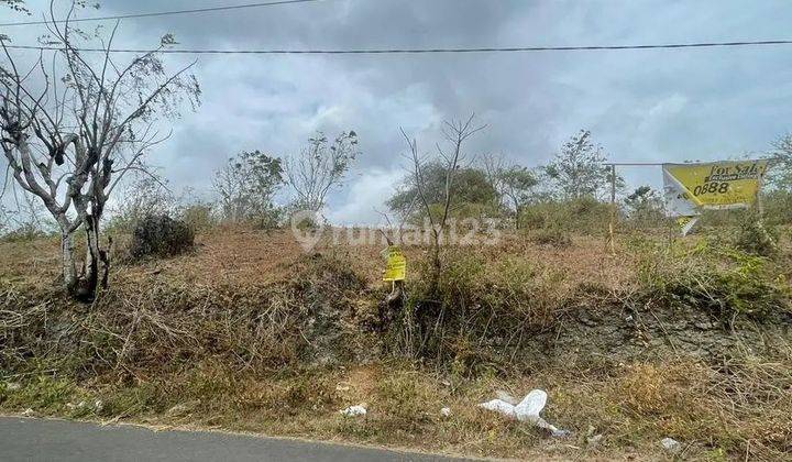
[[[0,37],[0,133],[15,184],[36,196],[58,224],[65,287],[91,300],[100,271],[107,285],[100,219],[108,198],[128,172],[144,169],[141,158],[167,138],[156,122],[177,117],[185,101],[195,108],[200,88],[188,74],[195,63],[166,73],[161,52],[175,43],[172,35],[121,64],[111,52],[119,23],[107,37],[100,29],[80,31],[69,21],[81,4],[72,2],[61,19],[51,2],[42,41],[54,50],[42,51],[24,69],[8,37]],[[81,50],[97,42],[98,57]],[[74,237],[80,229],[87,251],[78,273]]]

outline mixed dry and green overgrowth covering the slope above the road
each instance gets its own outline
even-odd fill
[[[717,240],[642,238],[603,261],[636,276],[608,283],[585,263],[606,254],[602,240],[559,251],[515,235],[448,253],[429,300],[431,260],[408,248],[406,311],[383,324],[387,288],[361,273],[361,249],[289,254],[272,282],[197,283],[187,268],[206,267],[229,237],[200,239],[205,249],[167,266],[124,267],[88,311],[3,270],[0,408],[433,450],[474,441],[462,451],[481,455],[651,454],[669,436],[701,459],[789,451],[780,262]],[[548,391],[548,418],[581,449],[475,407],[494,389],[531,387]],[[359,403],[365,419],[339,415]],[[588,426],[603,444],[586,443]]]

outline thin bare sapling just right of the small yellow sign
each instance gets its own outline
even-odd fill
[[[405,138],[409,146],[410,152],[408,154],[408,160],[410,161],[410,175],[413,175],[413,178],[415,178],[415,186],[418,191],[418,199],[424,207],[424,211],[426,212],[429,224],[431,226],[431,255],[433,268],[431,277],[431,292],[436,290],[438,279],[440,277],[440,271],[442,266],[440,261],[440,242],[443,234],[446,233],[446,229],[448,227],[449,211],[451,210],[451,204],[454,199],[454,178],[457,176],[458,168],[462,163],[464,163],[465,160],[465,153],[462,151],[462,146],[469,138],[486,128],[486,125],[476,127],[473,123],[474,118],[475,114],[471,114],[465,121],[443,122],[442,134],[448,146],[444,148],[440,144],[436,146],[438,155],[440,156],[446,166],[443,197],[439,211],[437,211],[437,209],[432,210],[432,202],[427,194],[427,178],[425,175],[425,166],[427,165],[427,161],[421,157],[418,151],[418,142],[414,138],[410,139],[403,129],[399,129],[402,131],[402,135]]]

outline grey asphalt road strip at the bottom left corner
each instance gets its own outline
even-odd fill
[[[0,417],[0,460],[428,462],[460,459],[279,438]]]

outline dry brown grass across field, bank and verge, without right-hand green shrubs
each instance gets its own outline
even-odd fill
[[[380,245],[322,242],[307,254],[288,231],[244,229],[197,242],[188,255],[117,266],[91,307],[59,295],[57,242],[0,244],[0,408],[508,458],[663,459],[664,437],[683,441],[690,459],[782,460],[792,451],[789,330],[780,343],[704,356],[597,360],[574,342],[538,349],[576,322],[575,310],[613,316],[582,331],[594,344],[623,341],[610,319],[641,304],[670,317],[663,329],[697,309],[684,297],[663,305],[678,294],[657,289],[666,286],[640,295],[647,275],[667,277],[646,270],[657,242],[623,240],[612,256],[602,239],[574,237],[558,249],[508,235],[450,252],[443,302],[462,316],[446,318],[453,322],[439,362],[405,358],[373,328],[389,289]],[[405,251],[417,300],[426,249]],[[721,283],[707,280],[704,292],[715,297]],[[556,355],[575,360],[546,361]],[[475,406],[496,389],[535,387],[550,395],[546,418],[573,437],[550,439]],[[366,417],[339,414],[360,403]],[[588,435],[603,440],[591,446]]]

